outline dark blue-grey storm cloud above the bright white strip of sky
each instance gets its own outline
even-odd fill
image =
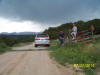
[[[0,0],[0,16],[59,24],[100,18],[100,0]]]

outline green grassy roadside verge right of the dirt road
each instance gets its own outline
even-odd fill
[[[69,64],[94,64],[94,67],[82,68],[86,75],[95,75],[94,71],[100,68],[100,39],[96,36],[94,43],[77,44],[69,47],[68,43],[58,47],[58,41],[51,41],[49,50],[52,50],[51,57],[62,65]]]

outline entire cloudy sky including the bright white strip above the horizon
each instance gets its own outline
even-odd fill
[[[100,18],[100,0],[0,0],[0,32],[39,32]]]

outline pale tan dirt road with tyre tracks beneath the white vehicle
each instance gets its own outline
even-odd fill
[[[61,70],[49,58],[45,47],[27,45],[0,55],[0,75],[74,75]]]

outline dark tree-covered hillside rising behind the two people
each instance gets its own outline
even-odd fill
[[[94,19],[87,22],[80,20],[74,23],[77,25],[78,31],[90,30],[90,26],[94,25],[95,34],[100,34],[100,19]],[[51,39],[57,39],[60,31],[64,31],[65,35],[68,35],[69,31],[72,29],[72,25],[73,23],[65,23],[58,27],[50,27],[45,30],[44,33],[49,34]]]

